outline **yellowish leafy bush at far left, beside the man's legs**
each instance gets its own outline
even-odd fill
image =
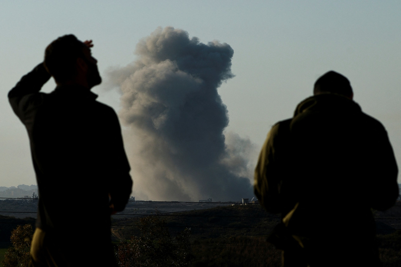
[[[4,254],[4,267],[28,267],[30,241],[33,236],[32,225],[18,225],[11,232],[12,247]]]

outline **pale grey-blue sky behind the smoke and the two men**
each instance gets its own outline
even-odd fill
[[[350,80],[363,111],[384,124],[401,162],[399,1],[0,3],[0,186],[36,184],[26,130],[6,96],[43,60],[52,40],[70,33],[93,40],[92,53],[103,76],[103,84],[93,92],[118,112],[120,94],[108,87],[107,69],[133,62],[138,41],[166,26],[185,30],[203,43],[219,40],[234,49],[235,77],[219,88],[229,112],[227,131],[249,137],[258,150],[269,128],[292,116],[296,105],[312,95],[315,80],[335,70]],[[54,87],[50,81],[43,90]]]

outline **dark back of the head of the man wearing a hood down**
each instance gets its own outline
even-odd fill
[[[350,81],[340,73],[330,70],[326,72],[315,82],[313,94],[334,93],[343,96],[352,96],[352,87]]]

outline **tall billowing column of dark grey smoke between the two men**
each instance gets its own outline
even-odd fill
[[[122,92],[119,116],[135,137],[128,140],[128,156],[136,198],[251,197],[247,156],[252,144],[235,134],[225,143],[229,120],[217,92],[234,76],[233,49],[166,27],[141,40],[135,53],[138,60],[109,74]]]

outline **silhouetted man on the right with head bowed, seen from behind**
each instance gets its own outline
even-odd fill
[[[268,240],[285,267],[380,266],[371,208],[394,204],[398,169],[385,128],[352,98],[348,79],[327,72],[263,145],[255,195],[282,214]]]

